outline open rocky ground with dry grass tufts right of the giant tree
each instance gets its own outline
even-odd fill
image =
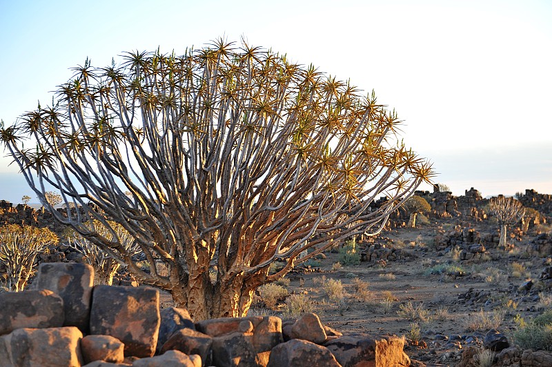
[[[552,294],[538,281],[552,259],[531,255],[536,233],[511,239],[508,249],[483,246],[475,255],[462,255],[462,247],[473,250],[466,243],[437,250],[436,235],[454,223],[450,219],[382,234],[376,242],[384,242],[391,253],[400,249],[398,259],[339,268],[339,254],[327,252],[310,261],[311,268],[293,271],[279,283],[290,294],[305,295],[322,322],[344,334],[405,335],[411,358],[428,366],[456,366],[463,351],[481,346],[489,330],[511,341],[516,319],[529,321],[551,307]],[[492,226],[473,230],[492,232]],[[342,297],[328,286],[335,281],[341,281]],[[537,286],[531,288],[531,282]],[[272,309],[259,297],[251,313],[285,319],[285,310],[284,297]]]

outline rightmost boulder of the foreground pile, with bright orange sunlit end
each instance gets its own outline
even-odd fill
[[[382,337],[374,339],[366,335],[337,337],[324,344],[342,366],[347,367],[400,367],[409,366],[410,359],[404,353],[404,339]]]

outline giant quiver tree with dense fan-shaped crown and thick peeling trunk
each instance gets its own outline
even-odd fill
[[[0,134],[44,205],[52,186],[81,208],[52,210],[59,221],[205,319],[244,315],[258,286],[332,241],[383,228],[432,175],[397,143],[399,123],[373,93],[220,40],[182,56],[128,53],[121,66],[86,61],[53,106]],[[135,238],[150,273],[104,216]],[[269,274],[276,259],[286,265]]]

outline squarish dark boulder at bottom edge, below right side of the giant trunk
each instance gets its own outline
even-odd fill
[[[253,333],[230,333],[213,337],[213,365],[258,366]],[[284,366],[284,365],[282,365]]]

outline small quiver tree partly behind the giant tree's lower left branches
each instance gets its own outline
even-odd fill
[[[124,229],[121,224],[114,221],[108,221],[108,225],[115,231],[115,237],[111,232],[101,224],[100,221],[94,221],[96,231],[108,241],[119,241],[121,246],[132,257],[140,252],[139,246],[135,244],[134,238]],[[83,255],[83,261],[90,264],[94,268],[95,284],[113,284],[113,277],[121,266],[126,264],[119,259],[118,256],[110,255],[111,251],[101,250],[94,242],[89,241],[86,237],[81,236],[74,230],[66,234],[66,239],[72,248],[75,248]]]

